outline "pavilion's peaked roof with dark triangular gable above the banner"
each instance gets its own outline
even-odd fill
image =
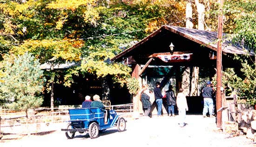
[[[228,37],[229,34],[223,33],[223,40],[225,39],[222,43],[223,54],[246,54],[243,47],[233,45],[231,41],[226,40]],[[171,43],[175,46],[175,52],[193,53],[194,58],[206,60],[209,59],[209,52],[216,55],[217,33],[165,25],[111,60],[121,61],[129,58],[129,60],[135,60],[138,64],[145,64],[152,54],[169,52]],[[192,62],[194,61],[192,60]],[[196,62],[199,63],[200,60],[197,59]],[[150,64],[165,65],[165,63],[158,60],[152,61]]]

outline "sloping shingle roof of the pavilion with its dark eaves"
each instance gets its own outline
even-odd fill
[[[246,50],[243,49],[239,44],[231,44],[230,40],[227,40],[230,34],[223,33],[223,43],[222,43],[222,53],[223,54],[246,54]],[[182,38],[180,38],[182,37]],[[124,50],[123,52],[117,54],[111,60],[121,60],[122,58],[127,58],[131,55],[136,54],[143,54],[148,52],[165,52],[166,50],[163,49],[164,46],[170,44],[170,40],[190,40],[190,42],[197,43],[198,45],[202,45],[207,47],[211,50],[217,51],[217,33],[216,32],[209,32],[204,30],[197,30],[197,29],[189,29],[185,27],[175,27],[175,26],[168,26],[164,25],[154,33],[151,33],[143,40],[136,43],[134,46]],[[155,41],[152,43],[152,41]],[[155,45],[158,44],[158,45]],[[154,46],[154,47],[153,47]],[[155,50],[157,46],[157,51]],[[147,49],[145,49],[145,47]],[[144,48],[144,49],[142,49]],[[166,49],[166,48],[165,48]],[[150,50],[150,51],[149,51]],[[254,53],[250,53],[250,55],[254,55]]]

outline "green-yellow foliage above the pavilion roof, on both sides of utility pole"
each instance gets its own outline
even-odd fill
[[[211,31],[217,31],[218,3],[216,0],[207,2],[206,24]],[[256,2],[255,0],[224,0],[223,32],[235,34],[234,43],[239,43],[247,49],[256,50]],[[242,41],[243,40],[243,41]]]

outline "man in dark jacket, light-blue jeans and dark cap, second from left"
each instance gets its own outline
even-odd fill
[[[154,89],[155,102],[157,104],[157,116],[161,116],[162,114],[162,93],[160,89],[160,82],[155,83]]]

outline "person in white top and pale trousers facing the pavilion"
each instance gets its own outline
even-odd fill
[[[183,89],[180,88],[179,93],[177,94],[176,104],[179,111],[179,125],[180,127],[184,127],[185,119],[186,119],[186,111],[189,111],[186,95],[183,94]]]

